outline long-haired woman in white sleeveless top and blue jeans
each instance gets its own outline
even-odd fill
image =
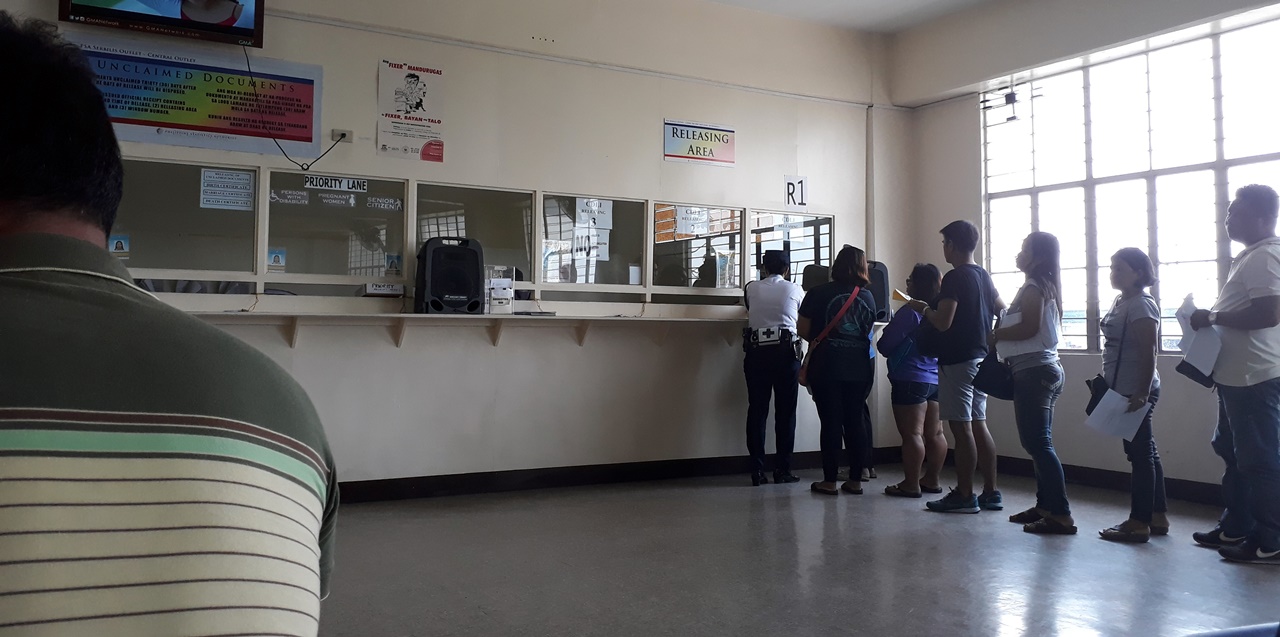
[[[1062,316],[1057,237],[1032,233],[1018,253],[1027,283],[991,335],[997,352],[1014,372],[1014,418],[1018,437],[1036,467],[1036,507],[1009,517],[1028,533],[1075,535],[1066,501],[1062,463],[1053,452],[1053,405],[1062,395],[1062,365],[1057,358]]]

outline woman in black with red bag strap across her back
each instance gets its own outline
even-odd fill
[[[874,374],[869,357],[874,301],[868,284],[867,253],[845,246],[831,266],[831,283],[814,288],[800,304],[796,330],[809,340],[809,353],[800,368],[801,384],[809,388],[822,422],[823,481],[810,490],[819,494],[861,494],[859,477],[865,462],[865,427],[861,403]],[[837,304],[838,303],[838,304]],[[838,308],[838,310],[837,310]],[[817,336],[817,325],[824,327]],[[849,449],[842,449],[847,443]],[[836,487],[841,452],[852,480]]]

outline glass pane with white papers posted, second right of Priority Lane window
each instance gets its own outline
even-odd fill
[[[543,283],[640,285],[644,212],[639,201],[543,198]]]

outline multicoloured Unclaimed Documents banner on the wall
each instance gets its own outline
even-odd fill
[[[97,74],[123,141],[220,151],[320,153],[320,67],[239,51],[68,32]],[[237,208],[238,210],[238,208]]]

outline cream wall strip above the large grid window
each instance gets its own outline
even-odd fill
[[[893,104],[973,91],[1024,69],[1271,3],[1258,0],[996,0],[897,33]]]

